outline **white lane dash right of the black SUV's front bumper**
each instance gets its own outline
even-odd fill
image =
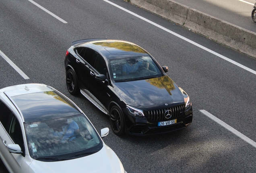
[[[234,133],[237,137],[243,139],[244,141],[246,141],[247,143],[251,144],[253,147],[256,148],[256,142],[252,141],[252,139],[246,137],[245,135],[243,135],[242,133],[240,133],[239,131],[235,130],[233,127],[227,125],[226,123],[224,123],[223,121],[221,121],[220,119],[218,119],[217,117],[211,115],[209,112],[205,111],[205,110],[199,110],[201,113],[203,113],[204,115],[206,115],[207,117],[209,117],[210,119],[212,119],[213,121],[215,121],[216,123],[218,123],[219,125],[225,127],[227,130],[231,131],[232,133]]]

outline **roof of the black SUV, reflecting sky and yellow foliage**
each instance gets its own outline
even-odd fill
[[[86,39],[74,41],[73,43],[76,43],[74,48],[81,46],[92,48],[107,59],[145,56],[149,54],[140,46],[124,40]]]

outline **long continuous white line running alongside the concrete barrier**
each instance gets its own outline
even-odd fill
[[[191,43],[191,44],[193,44],[195,46],[198,46],[199,48],[202,48],[203,50],[206,50],[207,52],[210,52],[210,53],[212,53],[212,54],[214,54],[216,56],[219,56],[220,58],[222,58],[224,60],[227,60],[228,62],[231,62],[232,64],[235,64],[236,66],[239,66],[240,68],[244,68],[245,70],[247,70],[247,71],[249,71],[249,72],[251,72],[253,74],[256,74],[256,71],[254,71],[254,70],[252,70],[252,69],[250,69],[250,68],[248,68],[248,67],[246,67],[246,66],[244,66],[242,64],[239,64],[239,63],[237,63],[237,62],[235,62],[235,61],[233,61],[233,60],[231,60],[231,59],[229,59],[229,58],[227,58],[227,57],[225,57],[225,56],[223,56],[221,54],[218,54],[217,52],[214,52],[213,50],[210,50],[209,48],[206,48],[206,47],[204,47],[204,46],[202,46],[202,45],[200,45],[200,44],[198,44],[198,43],[196,43],[196,42],[194,42],[192,40],[189,40],[188,38],[185,38],[184,36],[181,36],[180,34],[177,34],[177,33],[173,32],[173,31],[171,31],[171,30],[169,30],[169,29],[167,29],[167,28],[165,28],[163,26],[160,26],[159,24],[156,24],[156,23],[154,23],[154,22],[152,22],[152,21],[150,21],[150,20],[148,20],[148,19],[146,19],[146,18],[144,18],[142,16],[139,16],[138,14],[135,14],[134,12],[126,10],[125,8],[123,8],[121,6],[118,6],[118,5],[116,5],[113,2],[110,2],[108,0],[103,0],[103,1],[109,3],[109,4],[113,5],[113,6],[116,6],[117,8],[120,8],[121,10],[124,10],[125,12],[128,12],[128,13],[132,14],[133,16],[136,16],[136,17],[138,17],[138,18],[140,18],[140,19],[142,19],[142,20],[144,20],[146,22],[149,22],[150,24],[152,24],[154,26],[157,26],[158,28],[161,28],[162,30],[165,30],[166,32],[169,32],[170,34],[173,34],[174,36],[177,36],[177,37],[179,37],[179,38],[181,38],[181,39],[183,39],[183,40],[185,40],[185,41],[187,41],[187,42],[189,42],[189,43]]]

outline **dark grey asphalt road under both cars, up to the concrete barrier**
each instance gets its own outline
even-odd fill
[[[163,135],[118,137],[110,131],[103,140],[116,152],[126,171],[256,172],[256,59],[123,0],[111,2],[166,29],[107,0],[35,2],[67,23],[29,0],[0,1],[0,50],[29,77],[24,79],[0,56],[0,88],[23,83],[48,84],[72,99],[97,131],[110,128],[109,118],[87,99],[68,94],[64,56],[74,40],[128,40],[148,50],[161,66],[169,66],[167,74],[190,95],[194,119],[187,129]],[[207,115],[218,118],[219,123]],[[0,173],[6,172],[0,163]]]

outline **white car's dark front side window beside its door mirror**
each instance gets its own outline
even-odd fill
[[[21,151],[23,151],[24,153],[24,141],[21,126],[13,113],[11,115],[10,127],[7,132],[14,141],[14,143],[18,144],[21,147]]]

